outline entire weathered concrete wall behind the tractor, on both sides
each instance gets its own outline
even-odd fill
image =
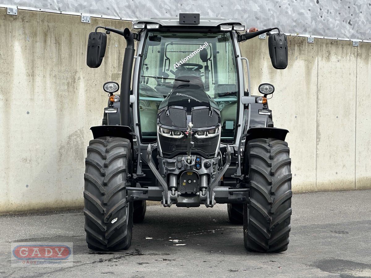
[[[119,82],[125,40],[110,35],[102,66],[86,66],[97,25],[124,21],[0,8],[0,213],[83,204],[89,128]],[[270,64],[267,40],[243,44],[252,90],[271,82],[275,126],[290,130],[293,191],[371,188],[371,44],[289,37],[289,67]],[[368,172],[367,172],[368,171]]]

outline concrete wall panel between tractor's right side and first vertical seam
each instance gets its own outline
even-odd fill
[[[274,125],[290,132],[286,138],[292,158],[293,190],[316,191],[318,44],[308,44],[300,37],[289,37],[288,42],[286,70],[272,67],[267,39],[255,38],[241,45],[245,57],[249,57],[252,93],[259,95],[261,83],[275,86],[269,108],[273,110]]]

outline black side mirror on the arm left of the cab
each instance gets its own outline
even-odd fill
[[[107,35],[101,32],[89,34],[86,64],[88,67],[99,67],[106,52]]]

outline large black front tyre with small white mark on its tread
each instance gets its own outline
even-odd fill
[[[88,248],[128,249],[133,204],[126,202],[127,174],[132,173],[128,139],[101,137],[89,142],[85,159],[84,215]]]

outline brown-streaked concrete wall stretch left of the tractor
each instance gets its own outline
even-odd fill
[[[126,47],[111,35],[105,63],[86,66],[89,32],[108,24],[131,25],[0,9],[0,212],[81,207],[89,128],[102,123],[103,83],[119,82]]]

